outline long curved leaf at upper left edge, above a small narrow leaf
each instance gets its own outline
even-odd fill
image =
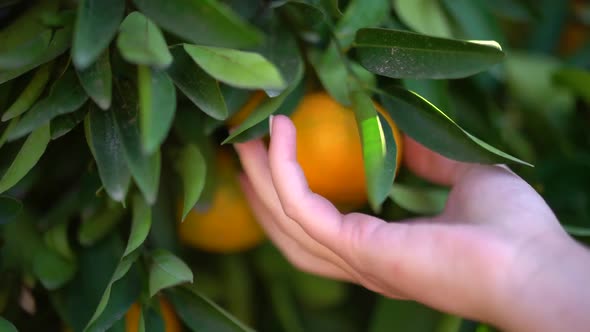
[[[49,46],[47,46],[41,57],[38,57],[35,59],[35,61],[29,63],[28,65],[19,67],[17,69],[6,71],[0,70],[0,84],[10,81],[11,79],[18,77],[31,69],[37,68],[40,65],[47,63],[64,53],[70,47],[71,35],[71,25],[57,29],[51,38]]]

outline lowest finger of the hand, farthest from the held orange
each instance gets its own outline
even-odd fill
[[[266,231],[273,243],[281,250],[286,258],[297,268],[317,274],[323,277],[338,279],[342,281],[354,281],[353,278],[340,267],[331,262],[317,257],[309,253],[298,242],[291,239],[284,234],[282,230],[275,224],[274,218],[264,204],[257,197],[252,184],[244,176],[240,177],[242,189],[252,210],[256,216],[256,220]]]

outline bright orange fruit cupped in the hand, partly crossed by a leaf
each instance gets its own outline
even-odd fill
[[[402,159],[402,136],[381,106],[397,144],[397,165]],[[297,128],[297,160],[310,189],[340,207],[355,208],[367,202],[367,183],[361,138],[354,112],[325,92],[306,95],[291,116]]]

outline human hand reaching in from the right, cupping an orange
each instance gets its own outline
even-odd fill
[[[406,138],[409,169],[452,186],[444,212],[399,222],[343,215],[309,190],[292,122],[272,122],[268,153],[259,140],[236,145],[241,182],[268,236],[298,268],[509,330],[588,323],[590,294],[571,286],[588,273],[588,252],[508,168],[451,161]]]

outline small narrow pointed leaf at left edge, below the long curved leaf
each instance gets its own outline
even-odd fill
[[[51,67],[51,63],[49,63],[37,69],[29,84],[27,84],[14,103],[4,112],[2,121],[13,119],[28,111],[33,106],[43,93],[43,90],[45,90],[45,86],[51,75]]]

